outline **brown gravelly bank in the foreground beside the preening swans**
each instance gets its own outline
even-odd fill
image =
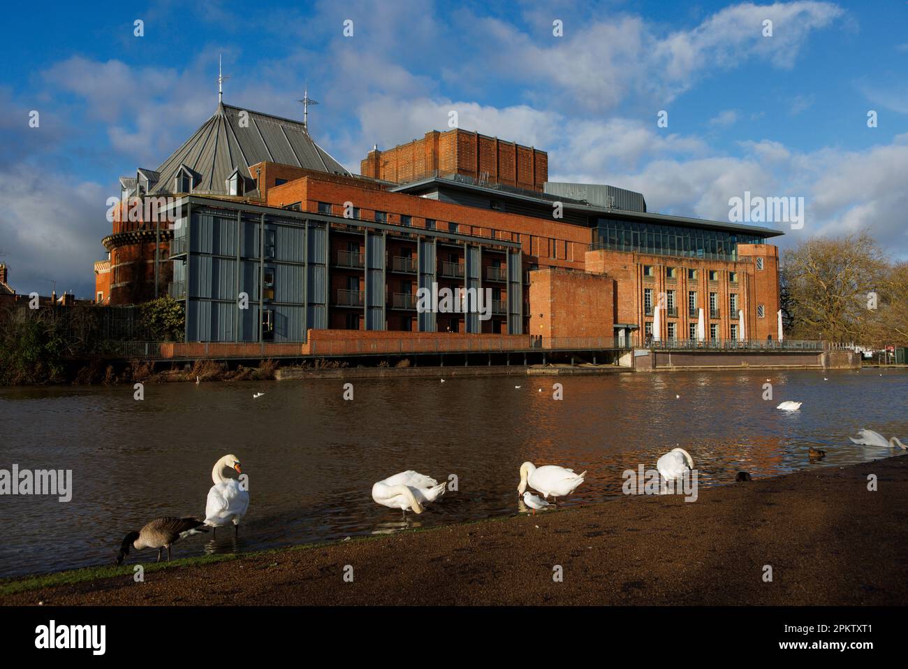
[[[694,503],[625,497],[190,561],[144,583],[132,565],[56,586],[6,582],[0,604],[904,604],[906,504],[908,456],[811,465],[701,490]]]

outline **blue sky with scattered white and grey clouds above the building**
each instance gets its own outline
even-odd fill
[[[804,197],[804,229],[781,245],[869,228],[908,258],[906,19],[908,3],[882,0],[11,5],[0,260],[20,292],[55,279],[92,295],[117,177],[157,167],[212,114],[219,53],[233,105],[301,118],[308,79],[311,133],[354,172],[371,145],[457,110],[460,127],[547,150],[552,180],[719,220],[745,190]]]

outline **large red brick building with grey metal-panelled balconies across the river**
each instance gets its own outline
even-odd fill
[[[179,224],[165,237],[115,222],[110,263],[95,265],[99,301],[145,299],[170,282],[186,301],[187,341],[340,330],[543,345],[777,336],[778,252],[766,240],[780,232],[654,214],[643,195],[612,186],[548,182],[545,152],[460,129],[376,148],[350,175],[305,127],[245,113],[259,135],[234,127],[242,110],[219,105],[159,170],[123,183],[126,199],[170,195]],[[236,165],[206,153],[219,142],[237,143]],[[418,304],[429,286],[488,291],[490,314],[429,314]]]

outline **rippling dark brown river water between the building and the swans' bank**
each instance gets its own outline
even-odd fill
[[[587,470],[558,502],[569,506],[620,495],[623,471],[653,467],[676,445],[708,486],[741,469],[763,477],[894,453],[852,444],[862,427],[908,435],[905,370],[354,380],[352,401],[343,383],[149,384],[141,402],[131,385],[0,388],[0,469],[73,471],[68,503],[0,496],[0,576],[112,564],[123,535],[148,520],[203,518],[225,454],[249,475],[239,538],[192,536],[174,557],[513,514],[526,460]],[[789,399],[801,410],[775,409]],[[824,460],[809,460],[812,445]],[[458,490],[405,523],[372,501],[371,486],[406,469],[456,474]]]

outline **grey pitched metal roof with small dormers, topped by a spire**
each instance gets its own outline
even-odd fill
[[[158,167],[160,178],[150,195],[172,193],[183,165],[198,175],[192,193],[227,195],[225,182],[234,170],[252,179],[249,166],[266,160],[350,175],[315,144],[300,121],[219,104],[214,115]]]

